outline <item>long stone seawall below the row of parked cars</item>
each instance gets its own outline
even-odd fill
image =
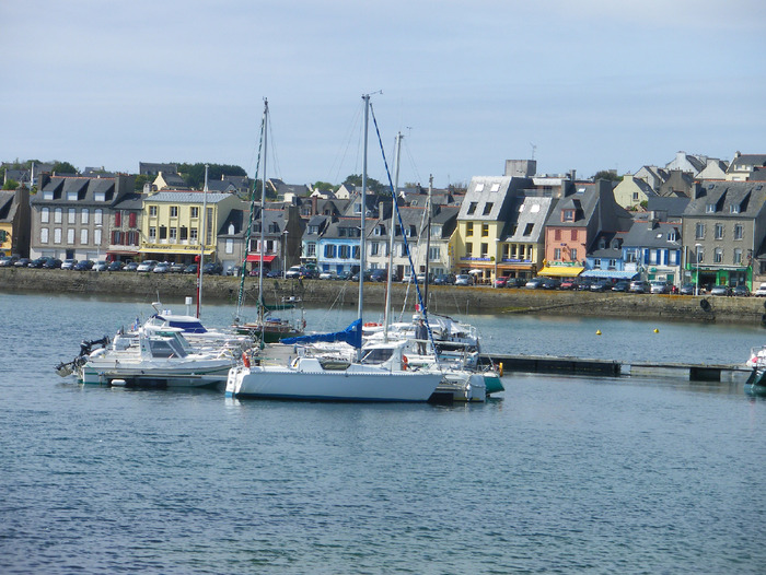
[[[185,274],[0,268],[0,292],[5,293],[70,293],[131,297],[146,302],[160,297],[172,303],[183,301],[184,296],[194,296],[196,285],[196,277]],[[405,296],[414,307],[415,286],[409,286],[408,295],[407,288],[394,284],[394,308],[402,306]],[[202,300],[234,304],[239,290],[240,278],[206,275]],[[257,298],[257,279],[245,278],[247,303],[252,304]],[[307,306],[356,307],[359,288],[353,282],[268,279],[264,281],[264,295],[267,303],[299,295]],[[364,284],[365,304],[381,306],[384,298],[384,283]],[[429,309],[448,315],[541,314],[762,324],[766,314],[764,304],[764,300],[756,297],[429,286]]]

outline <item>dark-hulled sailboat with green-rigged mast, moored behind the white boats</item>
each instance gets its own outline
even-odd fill
[[[289,338],[294,336],[300,336],[303,333],[305,328],[305,318],[303,317],[303,306],[297,296],[291,296],[282,300],[280,304],[267,305],[264,302],[264,246],[265,242],[265,198],[266,198],[266,150],[267,150],[267,136],[268,136],[268,99],[264,101],[264,117],[260,126],[260,142],[264,149],[264,168],[260,178],[260,238],[259,238],[259,256],[258,256],[258,303],[256,305],[257,319],[255,321],[240,321],[242,317],[242,304],[244,298],[244,282],[245,282],[245,261],[243,258],[242,262],[242,273],[240,274],[240,294],[237,298],[237,310],[236,320],[234,322],[233,329],[237,333],[245,336],[251,336],[254,339],[260,340],[263,343],[275,343],[282,338]],[[258,152],[258,157],[260,159],[260,152]],[[258,162],[259,163],[259,162]],[[258,174],[256,168],[255,180],[258,180]],[[254,184],[255,186],[255,184]],[[249,209],[249,220],[247,225],[247,236],[245,239],[245,245],[249,247],[249,234],[253,230],[253,221],[255,215],[255,187],[253,188],[254,193],[251,200]],[[285,240],[285,238],[282,238]],[[283,263],[283,262],[282,262]],[[297,312],[300,314],[297,316]],[[280,312],[281,315],[276,315]],[[283,314],[289,312],[287,317]]]

